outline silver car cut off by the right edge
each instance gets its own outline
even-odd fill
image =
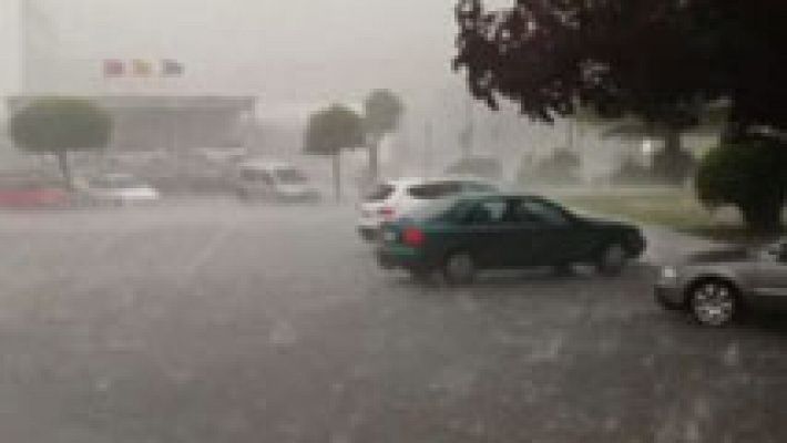
[[[753,249],[720,249],[665,266],[655,288],[667,309],[685,310],[701,324],[720,327],[743,310],[787,308],[787,241]]]

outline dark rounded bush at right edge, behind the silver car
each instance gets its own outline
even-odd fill
[[[708,207],[734,205],[752,230],[778,231],[787,195],[787,143],[765,136],[724,143],[703,158],[696,186]]]

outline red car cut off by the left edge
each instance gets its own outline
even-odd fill
[[[71,203],[60,181],[27,176],[0,177],[0,207],[64,207]]]

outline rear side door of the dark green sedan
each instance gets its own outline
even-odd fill
[[[454,248],[468,249],[478,266],[499,268],[514,262],[510,240],[517,227],[504,217],[509,203],[503,197],[489,197],[471,205],[460,220],[460,244]]]

